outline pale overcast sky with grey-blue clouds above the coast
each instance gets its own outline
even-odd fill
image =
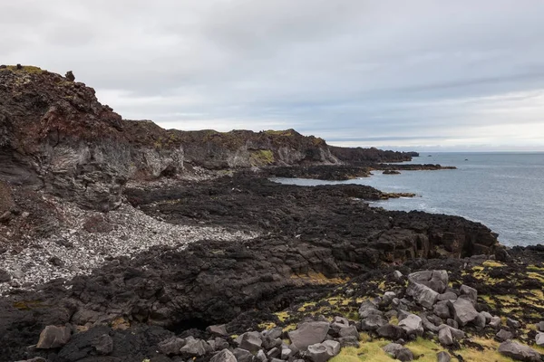
[[[543,0],[5,1],[17,62],[167,129],[544,150]]]

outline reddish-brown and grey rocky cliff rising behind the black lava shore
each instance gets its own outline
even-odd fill
[[[349,154],[345,157],[344,153]],[[232,169],[401,161],[408,154],[354,154],[294,129],[252,132],[166,130],[121,119],[92,88],[31,66],[0,67],[0,180],[43,188],[98,210],[120,203],[130,179]]]

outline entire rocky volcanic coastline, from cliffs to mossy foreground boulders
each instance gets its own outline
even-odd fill
[[[0,66],[0,360],[541,360],[541,245],[270,180],[449,172],[415,156],[160,129]]]

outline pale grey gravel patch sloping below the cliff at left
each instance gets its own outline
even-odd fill
[[[258,236],[219,227],[168,224],[128,204],[108,214],[66,203],[57,207],[64,218],[58,233],[34,240],[21,252],[8,250],[0,254],[0,271],[11,276],[10,281],[7,281],[9,277],[0,281],[0,294],[33,290],[57,278],[70,280],[76,275],[90,274],[107,259],[131,257],[156,245],[182,250],[189,243],[204,239],[238,242]]]

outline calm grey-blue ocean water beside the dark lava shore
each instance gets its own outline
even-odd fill
[[[429,156],[431,155],[431,156]],[[499,233],[500,243],[527,246],[544,243],[544,153],[421,153],[414,164],[455,166],[455,170],[402,171],[355,180],[329,182],[277,178],[277,182],[316,186],[352,183],[384,192],[410,192],[373,202],[388,210],[453,214],[480,222]]]

